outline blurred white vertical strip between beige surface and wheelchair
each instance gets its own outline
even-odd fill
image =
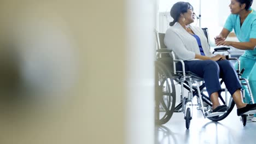
[[[154,0],[127,1],[126,143],[154,143]]]

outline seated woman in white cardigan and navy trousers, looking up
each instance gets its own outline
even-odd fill
[[[220,105],[219,95],[222,91],[219,78],[222,78],[226,88],[232,95],[237,107],[237,115],[256,110],[256,104],[246,104],[242,101],[241,84],[232,64],[225,56],[214,56],[209,49],[207,39],[199,27],[190,26],[194,22],[193,7],[188,2],[177,2],[171,8],[173,22],[165,34],[165,45],[171,49],[178,59],[182,59],[185,70],[203,77],[208,95],[212,101],[213,112],[223,112],[228,109]],[[181,70],[181,63],[177,63],[177,70]]]

